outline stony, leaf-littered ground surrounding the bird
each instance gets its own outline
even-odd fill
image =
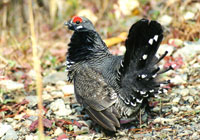
[[[146,115],[138,116],[134,125],[120,128],[112,135],[90,120],[75,99],[73,85],[67,82],[63,63],[72,32],[63,26],[63,22],[51,27],[41,20],[42,14],[37,14],[36,21],[41,20],[36,28],[43,79],[45,139],[200,139],[200,4],[190,0],[180,3],[172,0],[156,4],[152,0],[143,5],[140,15],[136,14],[136,9],[132,11],[133,15],[123,15],[124,19],[120,16],[113,19],[110,12],[106,18],[96,21],[95,27],[106,38],[111,53],[122,55],[130,26],[144,16],[156,19],[163,25],[165,33],[158,54],[169,52],[159,65],[161,68],[176,65],[174,70],[162,76],[162,79],[171,80],[168,93],[150,102],[154,106],[154,116],[148,116],[148,122],[144,121]],[[2,30],[1,35],[0,139],[38,140],[38,97],[30,35],[13,34],[12,28]]]

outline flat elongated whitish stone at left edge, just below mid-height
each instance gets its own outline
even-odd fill
[[[14,91],[14,90],[19,90],[19,89],[24,88],[24,85],[22,83],[15,82],[12,80],[1,80],[0,86],[5,88],[8,91]]]

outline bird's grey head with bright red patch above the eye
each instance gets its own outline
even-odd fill
[[[84,31],[95,31],[92,22],[81,16],[74,16],[69,21],[65,22],[64,25],[68,26],[68,29],[75,32],[84,32]]]

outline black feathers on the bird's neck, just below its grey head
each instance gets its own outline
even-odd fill
[[[67,59],[80,62],[110,54],[96,31],[74,32],[68,44]]]

